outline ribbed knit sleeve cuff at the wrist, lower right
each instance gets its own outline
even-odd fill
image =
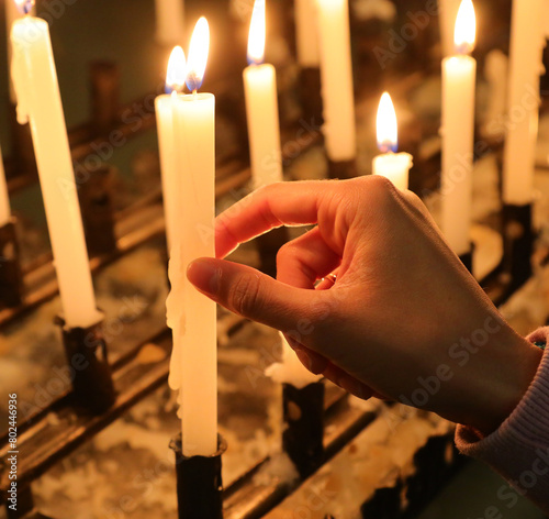
[[[549,344],[549,327],[536,330],[528,340]],[[516,493],[549,514],[549,346],[528,390],[500,428],[483,437],[458,426],[456,445],[462,454],[488,463]],[[495,500],[512,504],[513,490],[502,488],[500,494]]]

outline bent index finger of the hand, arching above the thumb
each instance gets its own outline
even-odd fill
[[[322,199],[334,180],[271,184],[249,194],[215,219],[215,255],[281,225],[317,223]]]

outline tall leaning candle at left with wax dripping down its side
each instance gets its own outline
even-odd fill
[[[30,3],[19,1],[26,12]],[[31,124],[64,318],[70,328],[86,328],[101,313],[96,308],[47,22],[30,15],[16,20],[11,43],[18,121]]]

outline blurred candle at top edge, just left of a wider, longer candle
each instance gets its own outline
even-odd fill
[[[295,46],[302,67],[318,67],[318,22],[315,0],[295,0]]]

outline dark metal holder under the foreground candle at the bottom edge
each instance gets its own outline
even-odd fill
[[[227,450],[219,435],[217,452],[211,456],[184,456],[181,434],[170,442],[176,453],[179,519],[223,519],[222,455]]]

